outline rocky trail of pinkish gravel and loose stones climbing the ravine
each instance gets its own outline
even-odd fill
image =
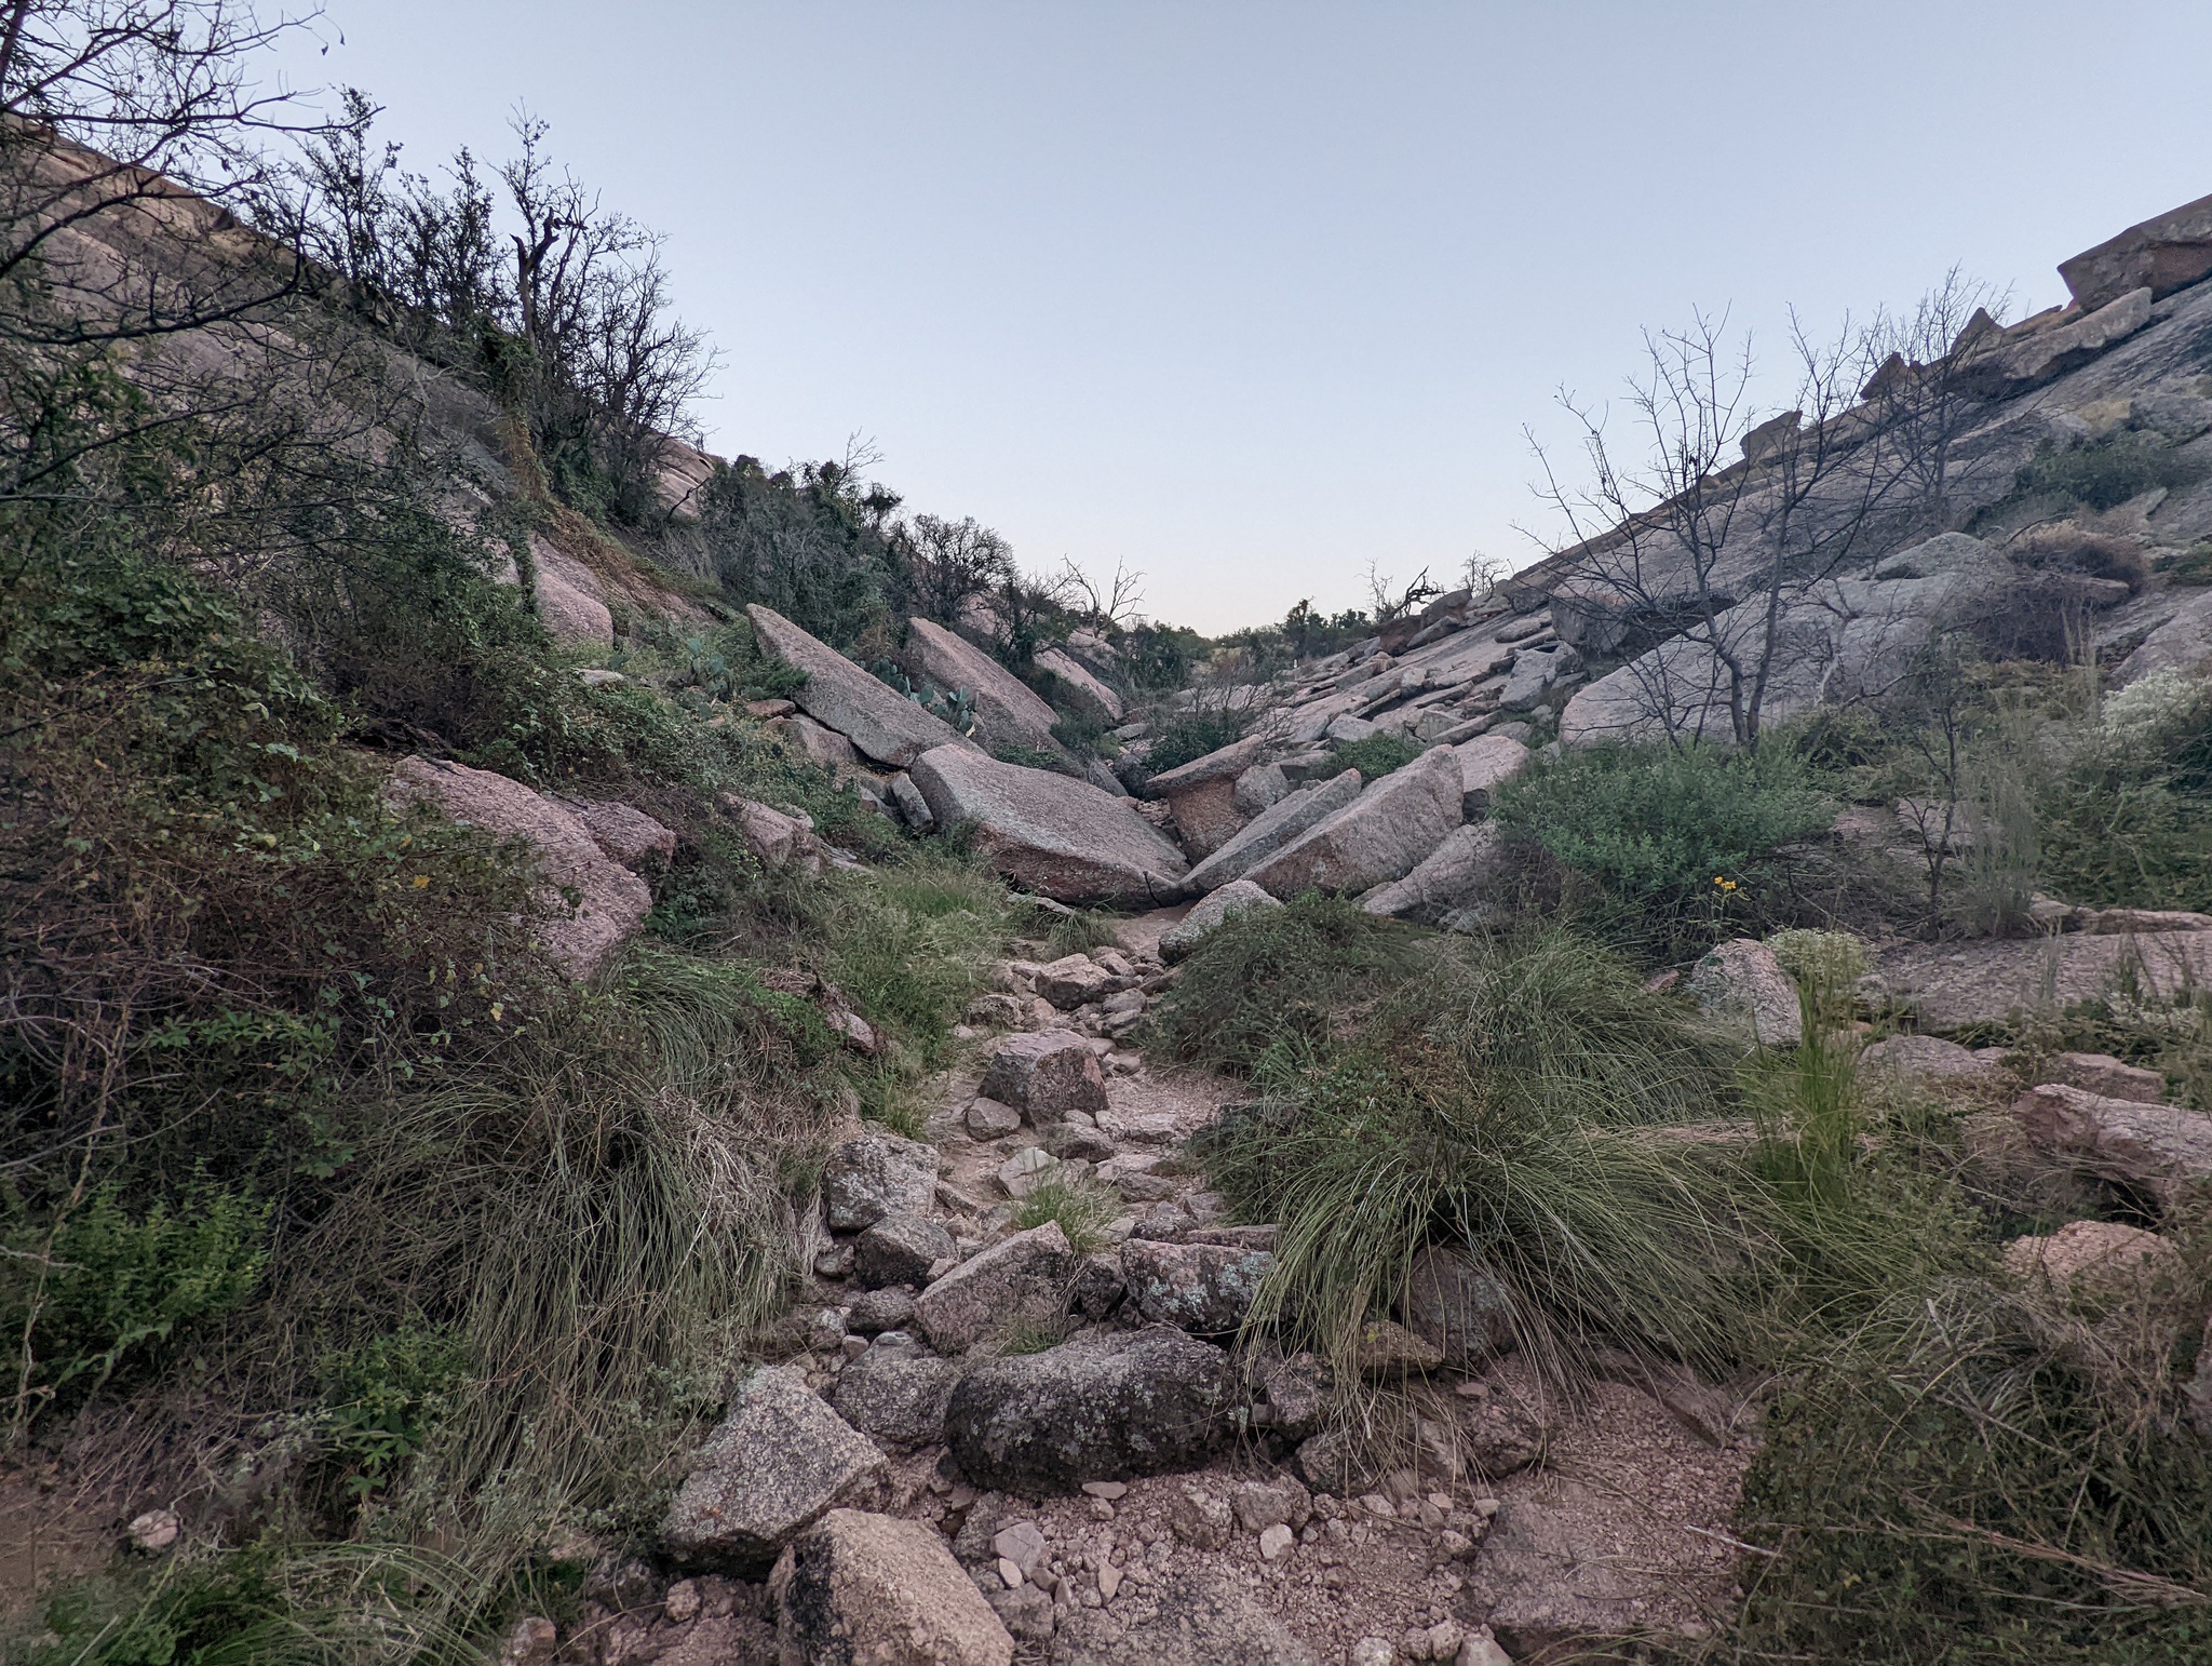
[[[604,1569],[586,1622],[524,1624],[513,1659],[1491,1666],[1725,1608],[1750,1458],[1728,1396],[1566,1403],[1513,1356],[1447,1365],[1440,1290],[1389,1372],[1449,1425],[1347,1476],[1321,1363],[1230,1350],[1272,1228],[1221,1226],[1177,1150],[1237,1086],[1077,1027],[1172,976],[1183,914],[1009,962],[975,1018],[1033,1027],[978,1031],[927,1142],[838,1150],[814,1283],[661,1527],[714,1571]],[[1079,1177],[1124,1204],[1095,1252],[1018,1226]]]

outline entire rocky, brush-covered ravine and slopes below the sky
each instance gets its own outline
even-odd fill
[[[2203,1651],[2205,204],[1307,659],[117,204],[0,336],[11,1657]]]

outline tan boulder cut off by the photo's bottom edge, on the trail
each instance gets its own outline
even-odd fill
[[[1011,1666],[1013,1637],[927,1522],[834,1509],[792,1544],[781,1666]]]

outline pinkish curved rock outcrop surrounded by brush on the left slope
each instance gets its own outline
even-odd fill
[[[447,821],[526,841],[544,876],[538,943],[546,960],[571,978],[588,978],[604,967],[653,909],[646,883],[611,861],[575,812],[504,774],[403,759],[385,785],[385,803],[394,814],[420,803]],[[571,907],[562,889],[577,892],[582,900]]]

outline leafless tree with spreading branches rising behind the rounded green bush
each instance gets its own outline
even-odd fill
[[[1893,491],[1880,431],[1849,416],[1863,336],[1814,339],[1792,321],[1790,345],[1792,409],[1761,420],[1750,341],[1699,314],[1646,336],[1646,374],[1630,383],[1637,451],[1564,394],[1588,485],[1564,487],[1537,447],[1540,496],[1571,533],[1555,615],[1590,650],[1630,655],[1641,719],[1668,739],[1699,739],[1725,715],[1728,739],[1759,743],[1778,673],[1814,670],[1798,648],[1818,633],[1798,628],[1801,613],[1827,606],[1825,586],[1865,553]]]

